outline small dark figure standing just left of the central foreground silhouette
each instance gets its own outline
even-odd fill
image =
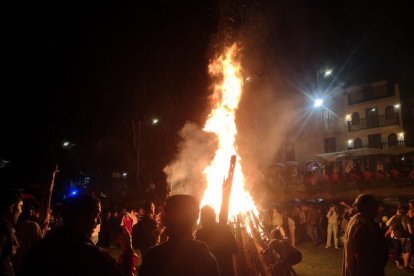
[[[132,245],[135,249],[139,249],[143,256],[148,249],[157,244],[158,231],[157,222],[154,219],[154,203],[144,202],[142,210],[142,217],[132,228]]]

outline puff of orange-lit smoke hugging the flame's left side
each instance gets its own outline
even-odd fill
[[[179,134],[178,154],[164,168],[167,182],[172,194],[191,194],[201,199],[206,187],[203,171],[214,157],[217,139],[191,122],[187,122]]]

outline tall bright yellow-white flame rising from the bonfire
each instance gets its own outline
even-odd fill
[[[218,149],[211,164],[204,169],[207,188],[201,206],[210,205],[217,214],[220,212],[223,179],[227,177],[231,156],[237,156],[230,195],[229,219],[249,211],[257,214],[253,199],[245,190],[245,178],[236,147],[235,115],[243,92],[243,77],[237,54],[237,45],[233,44],[209,65],[210,75],[218,81],[214,84],[211,96],[212,110],[203,129],[217,135]]]

